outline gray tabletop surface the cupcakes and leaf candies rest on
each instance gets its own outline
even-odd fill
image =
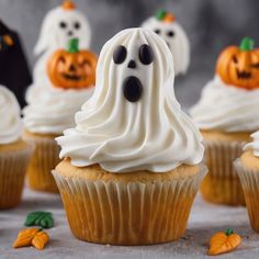
[[[47,210],[54,214],[56,225],[47,230],[50,243],[43,251],[34,248],[10,248],[18,232],[23,227],[26,214],[35,210]],[[0,212],[0,258],[212,258],[206,256],[211,235],[228,227],[241,235],[243,245],[236,251],[217,258],[258,258],[259,235],[250,229],[245,207],[212,205],[203,202],[198,195],[188,229],[179,240],[145,247],[115,247],[77,240],[70,234],[59,196],[26,190],[20,207]]]

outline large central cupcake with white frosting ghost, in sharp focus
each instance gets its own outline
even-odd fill
[[[173,78],[170,50],[150,30],[124,30],[103,46],[94,93],[57,138],[53,173],[77,238],[145,245],[183,234],[206,169]]]

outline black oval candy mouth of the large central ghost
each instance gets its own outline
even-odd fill
[[[128,102],[137,102],[142,98],[143,86],[138,78],[127,77],[123,82],[123,94]]]

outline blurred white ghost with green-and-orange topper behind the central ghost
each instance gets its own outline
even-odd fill
[[[190,64],[190,43],[184,30],[176,21],[176,16],[165,10],[159,10],[142,26],[154,31],[166,41],[173,56],[176,76],[185,74]]]

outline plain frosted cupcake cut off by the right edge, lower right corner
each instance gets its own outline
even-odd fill
[[[259,233],[259,132],[251,135],[252,142],[245,146],[245,153],[235,161],[241,182],[251,227]]]

